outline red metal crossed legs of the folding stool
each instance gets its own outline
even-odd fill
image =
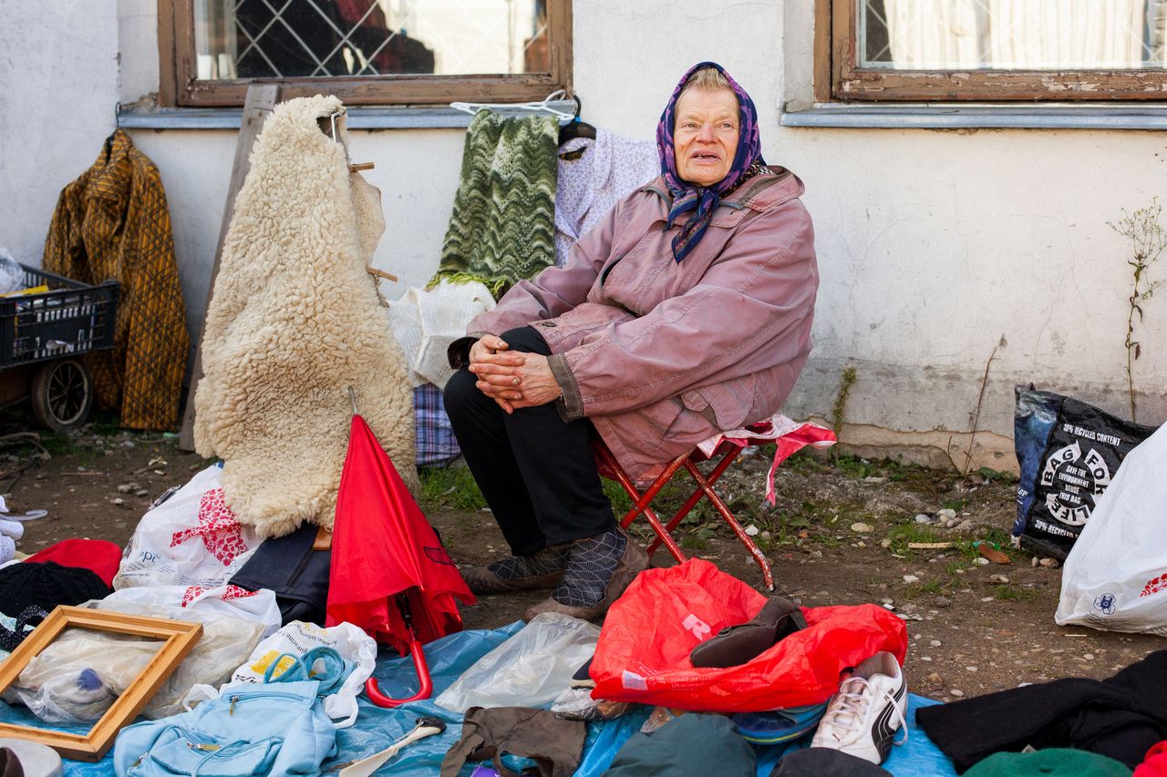
[[[689,511],[700,502],[704,496],[713,505],[713,509],[718,511],[721,518],[729,524],[729,528],[733,533],[738,536],[741,544],[746,546],[749,554],[754,556],[757,566],[762,569],[762,582],[766,584],[767,590],[774,590],[774,575],[770,572],[770,562],[767,560],[766,554],[762,550],[757,547],[753,538],[746,533],[741,524],[738,523],[738,518],[734,517],[733,512],[721,501],[717,491],[713,490],[713,484],[722,473],[725,473],[729,464],[734,462],[738,454],[741,453],[741,446],[736,446],[729,442],[725,442],[713,452],[713,455],[708,457],[708,461],[713,461],[718,456],[721,459],[713,467],[713,471],[706,477],[701,474],[701,470],[697,468],[696,462],[705,461],[706,457],[700,453],[699,449],[693,449],[687,454],[682,454],[673,459],[664,468],[664,471],[657,476],[652,484],[642,494],[637,490],[636,484],[633,482],[624,469],[616,461],[616,457],[608,449],[608,446],[603,443],[602,440],[594,440],[592,443],[593,452],[595,453],[596,463],[599,464],[600,474],[605,477],[616,481],[623,487],[624,491],[633,499],[633,509],[624,513],[624,517],[620,520],[620,525],[623,528],[628,528],[629,525],[636,519],[637,516],[644,516],[644,519],[649,522],[652,531],[656,533],[657,538],[652,540],[652,544],[648,547],[649,555],[652,555],[657,548],[664,545],[672,558],[677,559],[678,562],[684,561],[687,556],[680,546],[677,545],[676,540],[672,539],[672,532],[680,525]],[[677,512],[669,519],[668,523],[661,523],[661,518],[656,514],[656,511],[650,506],[652,499],[661,489],[664,488],[665,483],[671,481],[673,476],[685,469],[692,478],[697,482],[697,490],[685,501],[684,504],[677,510]]]

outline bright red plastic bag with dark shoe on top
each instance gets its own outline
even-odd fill
[[[782,709],[826,701],[844,670],[882,650],[903,663],[903,622],[860,604],[803,608],[808,628],[749,663],[693,667],[694,645],[749,621],[766,598],[701,559],[642,572],[605,618],[593,698],[707,712]]]

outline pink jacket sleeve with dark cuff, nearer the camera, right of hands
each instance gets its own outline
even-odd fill
[[[761,214],[689,292],[551,357],[565,418],[636,410],[804,356],[817,288],[805,208]]]

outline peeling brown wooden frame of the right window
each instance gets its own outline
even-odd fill
[[[1159,70],[889,70],[857,65],[855,0],[816,0],[815,99],[851,102],[1163,100]]]

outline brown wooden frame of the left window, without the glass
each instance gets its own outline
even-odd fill
[[[386,75],[328,78],[197,80],[195,0],[159,0],[159,104],[165,107],[242,106],[250,84],[278,84],[284,99],[326,92],[348,105],[427,105],[455,100],[520,103],[572,90],[572,4],[547,0],[551,72],[516,75]]]

